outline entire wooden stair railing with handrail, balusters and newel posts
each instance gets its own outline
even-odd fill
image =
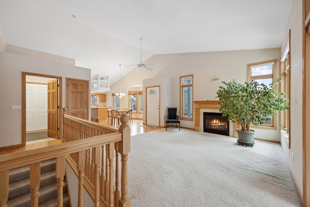
[[[121,127],[116,129],[64,114],[63,143],[1,155],[0,207],[7,207],[9,170],[29,164],[31,206],[37,207],[40,162],[52,158],[56,158],[58,207],[62,207],[65,159],[78,176],[78,207],[83,206],[83,186],[92,197],[95,207],[130,207],[127,176],[130,128],[126,114],[122,115],[121,122]],[[121,154],[121,170],[119,154]],[[115,182],[113,182],[114,175]],[[119,175],[121,175],[120,188]]]

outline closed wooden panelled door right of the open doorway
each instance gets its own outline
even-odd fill
[[[82,119],[89,119],[88,112],[88,80],[66,79],[67,93],[66,102],[68,115]]]

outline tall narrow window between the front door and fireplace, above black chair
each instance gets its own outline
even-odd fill
[[[181,119],[193,120],[193,75],[180,77]]]

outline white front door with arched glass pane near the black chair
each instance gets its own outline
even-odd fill
[[[159,126],[159,87],[146,89],[146,124]]]

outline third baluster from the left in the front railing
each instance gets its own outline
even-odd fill
[[[63,177],[65,172],[65,156],[56,158],[57,207],[63,206]]]

